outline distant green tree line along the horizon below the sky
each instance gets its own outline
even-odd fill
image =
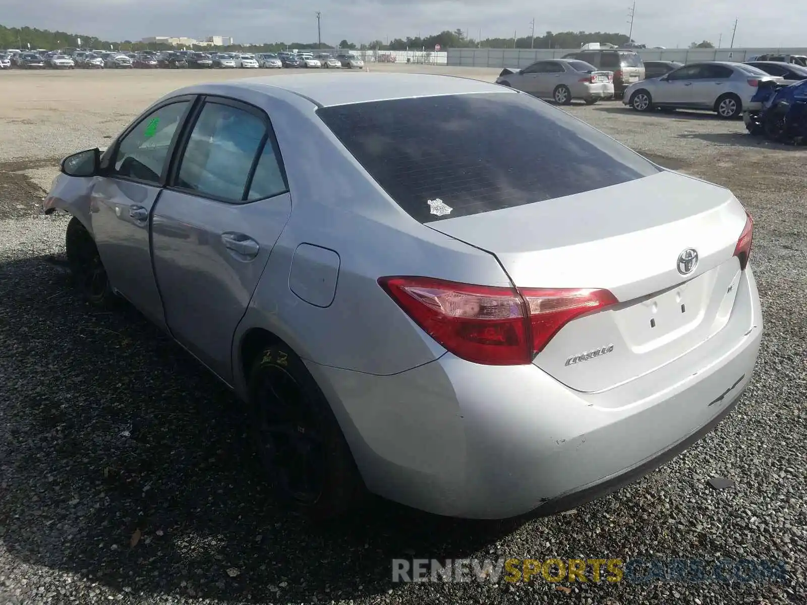
[[[479,37],[479,36],[477,36]],[[82,44],[78,44],[78,40]],[[341,40],[337,48],[356,50],[433,50],[437,44],[441,50],[447,48],[580,48],[588,42],[608,42],[610,44],[625,44],[630,42],[627,35],[608,33],[603,31],[561,31],[553,33],[547,31],[544,35],[521,36],[512,38],[486,38],[477,40],[468,31],[457,29],[454,31],[441,31],[439,34],[424,37],[408,36],[394,40],[373,40],[369,43],[356,44],[349,40]],[[0,25],[0,48],[113,48],[124,51],[140,50],[171,50],[175,47],[169,44],[144,44],[132,40],[101,40],[92,35],[71,34],[66,31],[49,31],[36,29],[36,27],[3,27]],[[235,44],[228,47],[206,47],[211,50],[252,50],[255,52],[277,52],[286,48],[332,48],[332,44],[317,44],[316,42],[274,42],[266,44]]]

